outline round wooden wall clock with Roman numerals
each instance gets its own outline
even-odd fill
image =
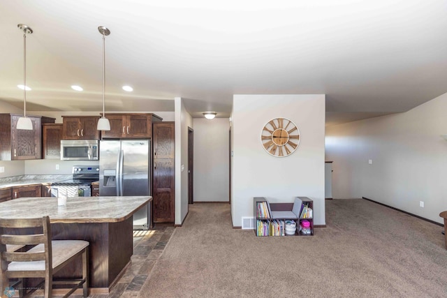
[[[287,118],[274,118],[265,124],[261,142],[268,154],[276,157],[289,156],[300,144],[300,131]]]

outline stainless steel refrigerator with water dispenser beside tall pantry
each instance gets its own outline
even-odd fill
[[[150,140],[102,140],[99,144],[101,196],[150,195]],[[151,204],[133,214],[133,229],[152,228]]]

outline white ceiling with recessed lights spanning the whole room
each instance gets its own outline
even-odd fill
[[[326,94],[328,124],[447,92],[447,1],[0,1],[0,100],[29,111],[230,115],[233,94]],[[85,91],[73,91],[79,84]],[[129,84],[134,91],[121,89]]]

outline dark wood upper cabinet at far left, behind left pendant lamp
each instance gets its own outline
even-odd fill
[[[33,124],[32,131],[17,129],[22,115],[0,114],[0,161],[41,159],[41,117],[28,116]]]

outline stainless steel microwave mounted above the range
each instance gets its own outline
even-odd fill
[[[61,140],[62,161],[98,161],[98,140]]]

